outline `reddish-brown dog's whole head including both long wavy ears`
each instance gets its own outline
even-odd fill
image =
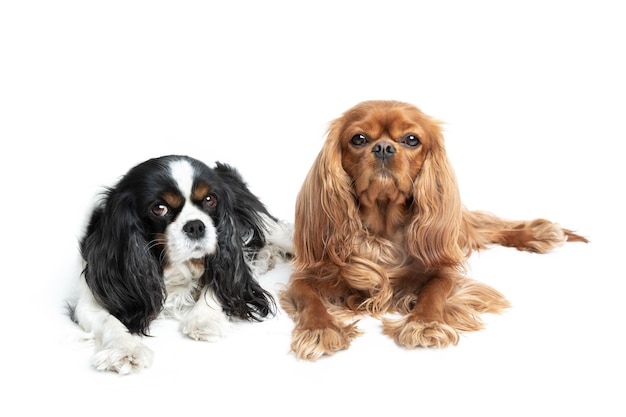
[[[296,256],[345,262],[366,232],[426,266],[456,264],[460,208],[439,122],[407,103],[362,102],[330,124],[305,180]]]

